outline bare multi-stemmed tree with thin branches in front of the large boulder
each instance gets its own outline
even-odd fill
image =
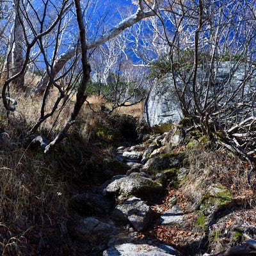
[[[158,12],[159,36],[170,49],[164,72],[172,74],[184,116],[248,160],[249,182],[256,135],[255,4],[179,1]]]

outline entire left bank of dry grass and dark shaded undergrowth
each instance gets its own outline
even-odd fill
[[[0,108],[0,255],[72,255],[65,228],[70,219],[68,200],[81,184],[90,186],[90,172],[102,157],[112,154],[113,141],[122,136],[118,113],[106,116],[99,111],[99,99],[88,99],[95,111],[84,104],[67,138],[44,154],[39,145],[22,141],[39,118],[40,99],[26,92],[12,92],[12,97],[18,102],[17,111]],[[72,104],[71,99],[37,134],[51,141]],[[140,112],[136,107],[129,111]]]

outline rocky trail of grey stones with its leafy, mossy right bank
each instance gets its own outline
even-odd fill
[[[243,244],[244,235],[256,236],[252,189],[237,195],[228,181],[236,161],[225,178],[204,168],[198,180],[186,163],[184,141],[175,128],[116,148],[112,161],[121,164],[119,171],[70,199],[67,232],[74,255],[215,255]],[[244,252],[248,248],[254,250]]]

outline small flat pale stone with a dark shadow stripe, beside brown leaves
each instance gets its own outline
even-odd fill
[[[183,212],[179,205],[173,205],[171,209],[165,211],[160,217],[161,225],[172,225],[183,220]]]

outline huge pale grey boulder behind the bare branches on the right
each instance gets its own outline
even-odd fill
[[[241,90],[242,83],[244,83],[243,93],[255,91],[256,76],[253,74],[253,68],[255,68],[253,65],[252,67],[244,68],[243,63],[240,63],[239,66],[229,61],[219,63],[218,68],[214,67],[214,79],[211,81],[212,86],[208,92],[209,97],[216,92],[224,92],[224,97],[218,100],[218,103],[221,104],[221,102],[225,102],[228,97],[233,95],[232,93]],[[209,70],[209,65],[200,65],[198,67],[196,83],[202,85],[207,84],[210,77]],[[184,77],[189,77],[189,70],[188,74]],[[184,88],[184,83],[187,84],[188,88],[191,88],[191,80],[188,82],[185,79],[184,81],[184,78],[178,75],[175,76],[175,82],[177,83],[177,87],[181,90]],[[242,94],[242,92],[240,94]],[[230,101],[229,104],[239,102],[240,94],[237,93],[237,95],[233,95],[233,100]],[[192,93],[189,95],[192,95]],[[195,105],[191,96],[186,99],[186,102],[189,102],[189,107]],[[144,115],[150,127],[177,123],[182,119],[182,109],[180,108],[180,102],[175,93],[172,74],[166,74],[157,79],[152,85],[147,100],[145,101]]]

